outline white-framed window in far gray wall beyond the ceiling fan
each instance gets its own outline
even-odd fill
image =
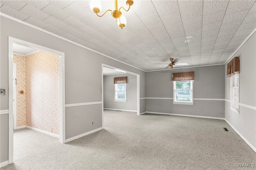
[[[194,104],[193,80],[173,81],[173,104]]]

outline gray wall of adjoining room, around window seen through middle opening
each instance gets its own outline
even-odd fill
[[[115,102],[114,77],[127,77],[126,100],[127,102]],[[137,76],[132,74],[116,74],[103,77],[104,108],[137,110]]]

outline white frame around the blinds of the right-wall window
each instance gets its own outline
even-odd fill
[[[236,113],[238,113],[239,114],[239,99],[240,99],[240,84],[239,84],[239,78],[240,78],[240,76],[239,76],[239,72],[235,72],[235,74],[233,74],[232,76],[230,76],[230,109],[232,110],[232,111],[234,111],[234,112],[236,112]],[[238,88],[238,101],[237,101],[237,107],[232,107],[233,105],[234,105],[234,94],[233,94],[233,88],[235,88],[235,87],[233,87],[233,79],[237,79],[237,80],[234,80],[234,81],[237,81],[237,88]],[[232,94],[233,94],[233,96],[232,96]]]

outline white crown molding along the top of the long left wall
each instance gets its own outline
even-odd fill
[[[29,26],[29,27],[32,27],[32,28],[37,29],[37,30],[39,30],[39,31],[42,31],[42,32],[44,32],[44,33],[48,33],[48,34],[50,34],[50,35],[52,35],[52,36],[54,36],[54,37],[60,38],[60,39],[62,39],[62,40],[64,40],[64,41],[68,41],[68,42],[70,42],[70,43],[72,43],[72,44],[74,44],[74,45],[78,45],[79,47],[82,47],[82,48],[84,48],[84,49],[88,49],[88,50],[90,50],[90,51],[93,51],[94,53],[98,53],[98,54],[100,54],[100,55],[103,55],[103,56],[108,57],[108,58],[110,58],[110,59],[112,59],[112,60],[118,61],[118,62],[120,62],[120,63],[126,64],[126,65],[131,66],[131,67],[133,67],[133,68],[136,68],[136,69],[138,69],[138,70],[142,70],[142,69],[137,68],[137,67],[135,67],[135,66],[132,66],[132,65],[130,65],[130,64],[124,63],[123,61],[119,61],[119,60],[117,60],[117,59],[115,59],[115,58],[112,58],[112,57],[110,57],[110,56],[108,56],[108,55],[105,55],[105,54],[103,54],[103,53],[100,53],[100,52],[95,51],[95,50],[93,50],[93,49],[90,49],[90,48],[88,48],[88,47],[85,47],[85,46],[83,46],[83,45],[80,45],[80,44],[78,44],[78,43],[75,43],[74,41],[70,41],[69,39],[63,38],[63,37],[61,37],[61,36],[59,36],[59,35],[56,35],[56,34],[54,34],[54,33],[51,33],[51,32],[49,32],[49,31],[46,31],[46,30],[42,29],[42,28],[39,28],[39,27],[36,27],[36,26],[31,25],[31,24],[29,24],[29,23],[26,23],[26,22],[24,22],[24,21],[18,20],[18,19],[16,19],[16,18],[13,18],[13,17],[8,16],[8,15],[6,15],[6,14],[3,14],[3,13],[1,13],[1,12],[0,12],[0,16],[3,16],[3,17],[8,18],[8,19],[10,19],[10,20],[14,20],[14,21],[16,21],[16,22],[22,23],[22,24],[24,24],[24,25],[27,25],[27,26]],[[145,70],[142,70],[142,71],[145,71]]]

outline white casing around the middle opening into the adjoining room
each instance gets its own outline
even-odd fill
[[[137,100],[136,112],[137,112],[137,115],[140,115],[140,74],[136,74],[134,72],[123,70],[121,68],[117,68],[117,67],[110,66],[107,64],[102,64],[102,127],[103,128],[104,128],[104,122],[103,122],[103,119],[104,119],[104,117],[103,117],[103,113],[104,113],[104,90],[103,90],[104,89],[104,68],[109,68],[114,71],[115,70],[120,71],[119,73],[125,72],[127,74],[132,74],[132,75],[136,76],[136,100]],[[111,70],[110,70],[110,72],[111,72]],[[114,87],[114,84],[113,84],[113,87]]]

